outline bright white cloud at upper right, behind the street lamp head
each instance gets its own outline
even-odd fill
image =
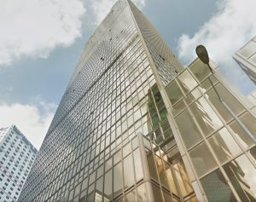
[[[212,60],[217,61],[224,73],[229,75],[230,81],[238,83],[245,76],[242,76],[244,74],[232,55],[256,35],[256,1],[221,0],[217,5],[218,13],[201,26],[193,37],[183,34],[179,38],[178,55],[182,61],[190,62],[195,59],[195,47],[203,44]]]

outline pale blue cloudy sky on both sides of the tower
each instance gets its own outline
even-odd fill
[[[0,0],[0,128],[39,148],[84,43],[113,0]],[[134,0],[183,66],[204,44],[244,95],[255,85],[232,59],[256,35],[255,0]]]

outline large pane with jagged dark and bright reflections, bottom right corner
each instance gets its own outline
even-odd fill
[[[242,201],[256,201],[256,170],[245,154],[224,165]]]

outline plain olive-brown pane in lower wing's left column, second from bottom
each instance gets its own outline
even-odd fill
[[[205,142],[193,148],[189,152],[189,156],[198,176],[202,176],[217,167],[217,163],[213,159],[212,153],[209,151]]]

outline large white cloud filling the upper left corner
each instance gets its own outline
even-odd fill
[[[81,35],[81,0],[0,0],[0,65],[21,55],[47,57]]]

